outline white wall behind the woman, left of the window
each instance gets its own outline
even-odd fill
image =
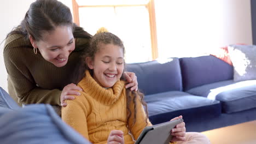
[[[6,35],[18,26],[21,20],[24,18],[30,4],[35,0],[8,0],[1,1],[0,3],[0,41],[2,42]],[[66,4],[72,10],[72,0],[60,0],[63,4]],[[0,42],[0,43],[1,43]],[[4,42],[0,45],[0,87],[7,91],[7,71],[3,61],[3,46]]]

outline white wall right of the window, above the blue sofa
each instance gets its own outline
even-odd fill
[[[252,44],[251,0],[161,0],[155,7],[160,57]]]

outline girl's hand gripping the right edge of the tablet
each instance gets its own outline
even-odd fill
[[[175,119],[182,118],[182,116],[178,116],[176,118],[171,119],[171,121]],[[171,135],[173,135],[171,141],[185,141],[185,135],[186,135],[186,128],[185,128],[185,123],[179,123],[177,124],[171,131]]]

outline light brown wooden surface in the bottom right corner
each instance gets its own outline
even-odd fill
[[[256,121],[203,131],[211,144],[256,144]]]

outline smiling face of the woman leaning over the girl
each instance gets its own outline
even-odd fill
[[[31,38],[30,38],[31,39]],[[68,62],[69,54],[75,49],[75,40],[71,26],[57,26],[54,31],[45,32],[43,40],[31,41],[43,58],[56,67],[63,67]]]

